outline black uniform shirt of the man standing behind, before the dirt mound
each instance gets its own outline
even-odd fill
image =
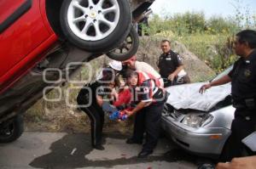
[[[181,57],[172,50],[170,50],[170,52],[167,54],[161,54],[158,62],[160,76],[167,78],[180,65],[183,65]]]

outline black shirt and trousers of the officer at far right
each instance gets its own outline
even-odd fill
[[[229,76],[236,111],[231,126],[229,152],[224,155],[226,161],[241,156],[245,149],[241,139],[256,131],[256,50],[247,59],[238,59]],[[249,154],[253,155],[253,152]]]

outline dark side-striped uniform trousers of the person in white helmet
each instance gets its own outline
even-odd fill
[[[89,103],[89,99],[92,99],[91,105],[83,107],[81,106],[79,109],[83,110],[86,115],[90,118],[90,130],[91,130],[91,144],[92,146],[102,144],[102,129],[104,124],[104,111],[102,107],[100,107],[96,103],[96,96],[95,96],[95,88],[92,85],[87,87],[91,87],[92,89],[92,96],[88,97],[89,93],[88,90],[82,88],[79,92],[77,102],[79,105],[86,105]]]

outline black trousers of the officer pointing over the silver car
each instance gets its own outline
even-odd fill
[[[256,131],[256,112],[252,112],[250,115],[247,112],[248,110],[236,110],[235,119],[231,125],[231,135],[225,144],[220,161],[231,161],[235,157],[244,156],[245,152],[247,155],[255,155],[255,152],[253,153],[241,143],[243,138]]]

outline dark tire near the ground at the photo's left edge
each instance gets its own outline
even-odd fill
[[[22,115],[16,115],[11,121],[3,124],[0,129],[0,143],[10,143],[20,138],[24,132],[24,121]]]

